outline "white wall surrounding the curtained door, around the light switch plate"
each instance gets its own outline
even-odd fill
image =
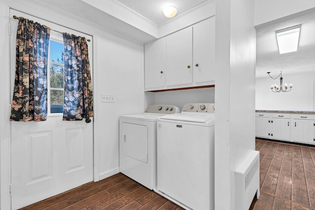
[[[128,41],[114,32],[109,33],[108,30],[95,26],[93,22],[75,16],[78,14],[70,13],[76,12],[76,9],[67,14],[56,11],[51,6],[43,6],[38,2],[30,4],[24,0],[1,0],[0,58],[3,69],[0,77],[0,209],[3,210],[10,207],[9,105],[12,96],[10,93],[9,48],[15,47],[9,46],[7,33],[10,18],[9,7],[94,36],[95,180],[119,172],[119,116],[144,110],[142,44]],[[116,103],[101,103],[102,93],[114,94]],[[23,122],[21,122],[21,126],[23,126]]]

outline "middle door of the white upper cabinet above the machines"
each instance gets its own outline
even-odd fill
[[[192,27],[166,36],[166,85],[192,83]]]

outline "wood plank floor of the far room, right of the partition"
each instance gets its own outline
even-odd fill
[[[315,210],[315,147],[256,140],[260,196],[251,210]]]

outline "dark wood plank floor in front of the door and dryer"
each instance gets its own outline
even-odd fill
[[[121,173],[22,210],[184,210]]]

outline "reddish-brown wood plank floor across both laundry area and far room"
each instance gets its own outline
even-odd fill
[[[260,197],[250,210],[315,210],[315,147],[256,140]],[[183,210],[126,175],[117,174],[23,210]]]

